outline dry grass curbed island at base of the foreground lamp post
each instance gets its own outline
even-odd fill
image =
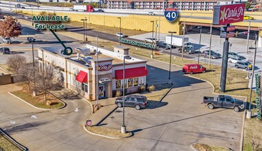
[[[87,126],[87,130],[99,135],[105,135],[107,137],[129,137],[129,133],[122,134],[120,130],[112,128],[102,128],[100,126]]]

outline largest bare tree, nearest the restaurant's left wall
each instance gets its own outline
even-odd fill
[[[47,90],[54,89],[61,83],[57,78],[57,71],[54,69],[54,66],[47,63],[39,65],[36,77],[37,86],[39,90],[43,91],[44,100],[46,100]]]

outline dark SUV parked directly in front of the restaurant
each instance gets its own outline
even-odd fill
[[[135,107],[137,110],[140,110],[140,108],[146,108],[147,106],[147,98],[144,95],[128,95],[124,98],[124,106]],[[115,104],[118,107],[122,107],[123,97],[116,98]]]

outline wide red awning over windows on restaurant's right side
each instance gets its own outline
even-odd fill
[[[115,71],[115,78],[116,80],[121,80],[123,79],[123,69],[121,70],[116,70]],[[130,69],[125,69],[124,72],[124,78],[135,78],[135,77],[142,77],[147,74],[149,74],[149,71],[147,71],[146,67],[136,67],[136,68],[130,68]]]

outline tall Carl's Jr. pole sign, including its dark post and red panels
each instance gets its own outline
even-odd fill
[[[221,38],[226,38],[223,43],[223,58],[220,77],[220,92],[226,91],[226,73],[228,70],[228,38],[234,36],[234,27],[230,27],[230,23],[243,21],[245,12],[245,3],[230,4],[230,5],[215,5],[213,11],[213,25],[226,25],[226,33],[221,33]]]

